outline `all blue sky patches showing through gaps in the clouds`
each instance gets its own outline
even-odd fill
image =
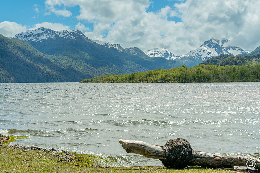
[[[161,8],[165,6],[174,6],[175,3],[180,3],[180,1],[167,1],[167,0],[155,0],[150,1],[151,4],[147,8],[147,12],[157,12]],[[36,11],[35,9],[38,9]],[[56,5],[57,9],[63,9],[64,5]],[[85,20],[78,20],[76,16],[80,15],[80,7],[79,5],[66,7],[72,13],[70,17],[63,17],[59,15],[55,15],[51,13],[46,15],[46,5],[44,0],[40,1],[33,1],[33,0],[26,0],[26,1],[2,1],[0,6],[0,22],[3,21],[11,21],[16,22],[22,25],[26,25],[29,28],[33,27],[36,23],[42,22],[51,22],[51,23],[61,23],[64,25],[69,26],[71,30],[75,29],[75,25],[78,22],[81,22],[86,27],[89,27],[93,30],[93,23],[85,21]],[[169,20],[174,20],[175,22],[180,22],[180,18],[178,17],[170,17]]]

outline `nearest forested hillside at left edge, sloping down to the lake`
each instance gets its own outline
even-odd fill
[[[0,34],[0,82],[66,82],[86,76],[73,67],[62,67],[51,61],[53,58],[26,41]]]

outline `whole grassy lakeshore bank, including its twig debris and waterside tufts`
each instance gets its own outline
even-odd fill
[[[102,167],[109,165],[105,158],[70,153],[68,151],[45,150],[37,147],[24,147],[22,145],[8,146],[15,139],[24,136],[0,136],[0,172],[231,172],[229,170],[207,169],[201,167],[187,167],[185,169],[166,169],[164,167]]]

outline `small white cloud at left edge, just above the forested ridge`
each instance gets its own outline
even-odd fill
[[[18,24],[16,22],[4,21],[0,23],[0,33],[5,37],[12,37],[15,34],[27,30],[26,26]]]

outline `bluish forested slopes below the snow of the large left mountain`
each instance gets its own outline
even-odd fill
[[[80,34],[82,33],[80,32]],[[88,64],[92,67],[88,69],[88,72],[93,76],[100,74],[129,74],[154,70],[155,68],[180,67],[182,65],[175,60],[150,58],[141,50],[138,54],[131,54],[127,49],[119,52],[115,48],[99,45],[86,36],[77,37],[76,39],[50,38],[38,42],[28,40],[28,43],[37,50],[49,55],[62,55],[70,61],[76,60],[80,64]],[[161,63],[161,61],[163,62]]]

